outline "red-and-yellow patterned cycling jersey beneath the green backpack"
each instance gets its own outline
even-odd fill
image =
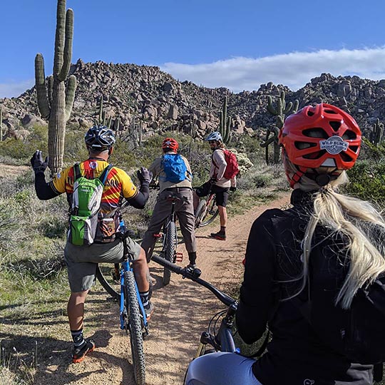
[[[81,175],[87,179],[98,178],[103,170],[108,166],[108,162],[99,159],[88,159],[80,163]],[[58,194],[66,193],[68,201],[71,202],[73,193],[73,166],[68,167],[61,173],[58,173],[51,180],[51,188]],[[111,212],[120,207],[123,197],[130,199],[138,194],[138,189],[133,184],[133,181],[120,168],[111,168],[104,184],[104,190],[101,200],[101,215],[108,216]]]

